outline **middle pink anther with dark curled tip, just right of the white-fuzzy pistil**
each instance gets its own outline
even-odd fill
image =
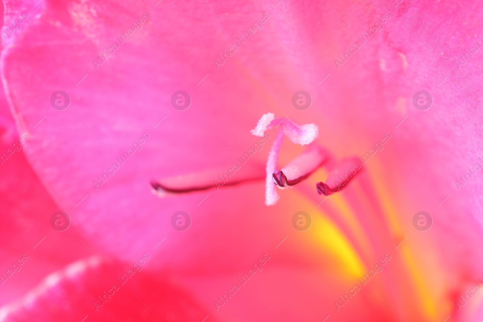
[[[327,154],[320,147],[313,147],[298,155],[282,170],[273,172],[273,182],[280,187],[297,184],[306,179],[327,160]]]

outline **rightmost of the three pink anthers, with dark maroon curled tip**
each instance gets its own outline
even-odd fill
[[[341,161],[327,177],[327,183],[317,182],[317,192],[319,195],[328,196],[340,191],[345,185],[354,179],[362,170],[363,163],[359,158],[351,158]]]

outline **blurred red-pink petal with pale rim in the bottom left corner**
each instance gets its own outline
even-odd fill
[[[134,271],[136,260],[120,263],[103,259],[109,269],[93,255],[72,262],[46,276],[25,296],[17,295],[18,300],[10,296],[11,302],[0,308],[0,320],[81,322],[87,317],[85,321],[92,322],[181,322],[206,317],[206,310],[169,280],[169,273],[149,270],[152,258],[137,264]],[[129,269],[134,273],[129,273],[123,284],[118,279]]]

